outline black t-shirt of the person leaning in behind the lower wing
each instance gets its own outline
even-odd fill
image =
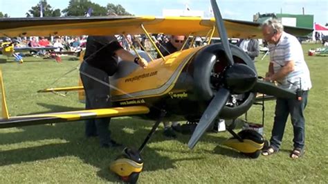
[[[113,36],[89,36],[86,39],[84,61],[95,68],[113,75],[118,66],[116,50],[122,48],[116,37]]]

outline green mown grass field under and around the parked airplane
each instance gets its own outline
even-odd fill
[[[306,116],[306,152],[298,160],[289,158],[293,148],[291,123],[286,126],[282,149],[270,157],[249,159],[221,147],[228,133],[206,134],[193,150],[189,136],[176,140],[163,137],[161,127],[143,152],[145,167],[140,183],[326,183],[328,181],[328,57],[308,57],[313,89],[309,93]],[[262,56],[262,55],[261,55]],[[4,58],[4,57],[2,57]],[[259,75],[264,75],[268,57],[257,58]],[[10,60],[10,59],[9,59]],[[46,87],[73,86],[78,70],[67,75],[78,62],[26,58],[24,64],[0,64],[3,70],[8,109],[11,116],[51,111],[83,109],[77,93],[66,97],[37,93]],[[55,84],[52,84],[60,78]],[[266,138],[271,136],[275,102],[266,103]],[[261,108],[253,106],[249,120],[261,122]],[[152,121],[115,118],[113,138],[138,147],[152,127]],[[121,149],[102,149],[98,139],[84,138],[82,122],[0,129],[0,183],[111,183],[119,182],[109,172],[109,163]]]

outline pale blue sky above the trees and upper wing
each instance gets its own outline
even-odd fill
[[[210,15],[210,0],[91,0],[100,6],[107,3],[122,5],[127,12],[138,15],[152,15],[161,17],[163,9],[202,10]],[[39,0],[0,0],[0,12],[10,17],[26,17],[26,12]],[[69,5],[69,0],[47,0],[53,8],[63,10]],[[328,23],[327,0],[217,0],[224,19],[239,19],[253,21],[257,12],[275,12],[302,14],[302,8],[307,15],[314,15],[314,22],[325,25]]]

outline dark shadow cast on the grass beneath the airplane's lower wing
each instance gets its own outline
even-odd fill
[[[138,120],[138,118],[114,119],[111,122],[112,137],[127,147],[138,148],[152,127],[149,122]],[[128,134],[124,130],[126,127],[134,129],[133,134]],[[117,176],[109,174],[109,164],[120,155],[122,147],[118,149],[100,148],[98,138],[84,138],[84,124],[82,122],[55,124],[54,126],[21,127],[21,129],[23,131],[0,134],[0,145],[8,146],[16,143],[18,146],[13,145],[13,147],[19,147],[18,149],[3,149],[4,151],[0,151],[1,166],[62,156],[76,156],[84,160],[85,163],[100,168],[98,176],[101,178],[111,182],[118,182]],[[158,136],[160,132],[156,133],[150,142],[163,141],[163,136]],[[63,142],[58,141],[58,139],[63,140]],[[48,143],[40,143],[40,140]],[[188,157],[172,160],[167,156],[161,156],[156,149],[147,146],[142,156],[145,158],[144,171],[174,168],[174,162],[179,160],[201,159]]]

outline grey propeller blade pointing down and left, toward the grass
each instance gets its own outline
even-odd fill
[[[194,129],[194,133],[188,142],[190,149],[194,148],[201,136],[206,132],[208,127],[212,124],[213,120],[217,118],[221,109],[226,105],[230,92],[227,89],[221,88],[215,94],[215,97],[211,100],[210,104],[206,108],[206,111],[201,116],[201,120]]]

